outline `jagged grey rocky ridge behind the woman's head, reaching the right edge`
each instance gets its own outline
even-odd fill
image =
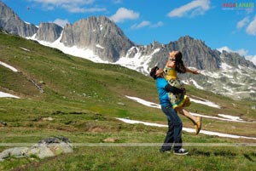
[[[172,50],[179,50],[183,54],[184,65],[192,66],[199,70],[218,71],[222,62],[227,63],[230,66],[237,67],[238,65],[241,65],[256,69],[253,62],[245,60],[245,58],[241,57],[239,54],[227,53],[225,51],[220,53],[216,49],[207,47],[203,41],[189,36],[180,37],[177,41],[166,45],[151,45],[149,47],[160,49],[158,53],[152,55],[152,60],[150,62],[151,67],[155,65],[164,67],[169,56],[168,53]],[[144,49],[144,51],[148,51],[148,49],[150,49],[149,47]]]

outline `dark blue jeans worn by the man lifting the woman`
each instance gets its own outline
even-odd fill
[[[168,121],[168,131],[166,139],[161,147],[161,151],[170,151],[174,143],[173,150],[178,151],[182,147],[182,129],[183,123],[177,116],[177,112],[172,109],[172,105],[161,106],[162,111],[166,114]]]

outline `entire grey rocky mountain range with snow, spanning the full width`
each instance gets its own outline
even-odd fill
[[[184,83],[235,99],[256,97],[256,66],[253,62],[236,53],[209,48],[203,41],[193,37],[180,37],[168,44],[154,42],[137,45],[105,16],[91,16],[73,25],[67,24],[64,28],[53,23],[41,23],[37,28],[21,21],[3,3],[0,5],[0,27],[3,30],[59,48],[64,53],[125,66],[148,75],[153,66],[165,66],[170,51],[180,50],[185,66],[202,71],[201,75],[196,76],[179,75]],[[71,50],[73,47],[79,49],[81,54]],[[89,54],[87,50],[90,50]]]

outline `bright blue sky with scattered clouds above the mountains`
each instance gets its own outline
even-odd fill
[[[60,26],[105,15],[134,43],[190,36],[238,52],[256,65],[256,0],[2,0],[21,20]],[[224,3],[232,7],[224,7]],[[234,4],[236,3],[236,7]],[[239,5],[248,5],[240,6]]]

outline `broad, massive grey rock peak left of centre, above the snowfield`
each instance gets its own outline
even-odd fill
[[[134,46],[124,32],[105,16],[93,16],[65,26],[61,43],[67,47],[89,48],[109,62],[119,60]]]

